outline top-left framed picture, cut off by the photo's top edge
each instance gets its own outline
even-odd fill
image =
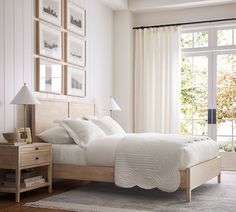
[[[36,17],[49,23],[61,26],[62,24],[61,0],[37,0]]]

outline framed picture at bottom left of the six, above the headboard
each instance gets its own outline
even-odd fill
[[[62,94],[63,93],[63,66],[60,63],[36,60],[37,91]]]

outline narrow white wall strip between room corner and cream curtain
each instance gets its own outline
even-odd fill
[[[133,14],[114,15],[114,98],[122,111],[115,119],[127,132],[133,132]]]

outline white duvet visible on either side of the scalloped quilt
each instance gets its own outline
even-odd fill
[[[111,166],[115,164],[116,147],[122,136],[107,136],[93,140],[86,150],[87,164],[90,166]],[[204,140],[189,143],[182,149],[181,170],[219,155],[216,142]]]

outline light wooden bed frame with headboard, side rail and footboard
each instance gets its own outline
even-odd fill
[[[94,115],[95,105],[91,102],[65,102],[60,100],[40,100],[41,104],[32,107],[33,141],[40,141],[36,135],[55,124],[56,119],[78,118]],[[86,180],[97,182],[114,182],[114,167],[78,166],[68,164],[53,164],[54,179]],[[197,164],[180,171],[180,188],[186,191],[186,201],[191,201],[194,188],[208,180],[217,177],[221,182],[221,159],[214,159]]]

